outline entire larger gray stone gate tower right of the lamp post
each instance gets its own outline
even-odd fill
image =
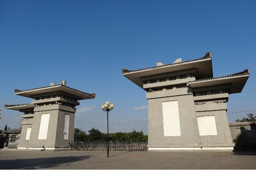
[[[122,75],[147,92],[149,151],[234,149],[226,102],[242,91],[249,69],[214,78],[209,52]]]

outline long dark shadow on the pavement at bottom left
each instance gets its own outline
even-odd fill
[[[26,155],[24,155],[24,157],[26,157]],[[67,166],[76,161],[90,159],[92,157],[95,157],[95,156],[92,156],[92,155],[60,156],[60,157],[53,157],[53,158],[0,160],[0,165],[1,165],[0,169],[53,168],[57,166]]]

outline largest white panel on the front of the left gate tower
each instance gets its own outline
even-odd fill
[[[49,119],[50,119],[50,113],[41,115],[38,139],[46,139],[47,138]]]

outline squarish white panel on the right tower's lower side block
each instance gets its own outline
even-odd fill
[[[198,116],[197,123],[200,136],[218,135],[215,116]]]

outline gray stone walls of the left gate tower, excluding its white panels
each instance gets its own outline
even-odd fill
[[[60,104],[38,106],[34,108],[31,124],[23,121],[19,149],[68,149],[69,141],[74,140],[75,109]],[[39,139],[40,123],[43,114],[50,114],[46,139]],[[64,139],[64,115],[69,115],[68,139]],[[46,123],[46,122],[44,122]],[[29,140],[26,140],[27,127],[31,127]],[[44,131],[46,131],[44,129]]]

